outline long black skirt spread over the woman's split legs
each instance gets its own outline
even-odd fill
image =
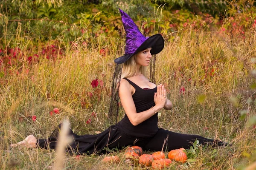
[[[54,130],[48,139],[38,139],[37,145],[41,148],[55,149],[58,144],[58,133],[61,129],[61,124]],[[97,135],[82,135],[79,136],[70,129],[69,135],[72,136],[73,142],[67,147],[67,151],[75,154],[93,154],[107,153],[108,150],[122,149],[127,146],[140,146],[146,151],[174,150],[178,148],[189,149],[195,142],[199,144],[212,144],[214,146],[223,146],[226,143],[207,139],[199,135],[188,135],[175,133],[162,128],[158,129],[157,133],[149,138],[138,138],[128,136],[119,130],[117,125],[108,127],[102,133]],[[165,142],[166,141],[166,142]],[[163,144],[165,145],[163,146]]]

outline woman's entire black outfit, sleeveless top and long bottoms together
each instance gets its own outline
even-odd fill
[[[155,105],[154,93],[157,92],[157,88],[142,89],[131,80],[124,79],[135,88],[132,98],[137,113],[146,111]],[[180,147],[188,149],[195,140],[198,140],[201,144],[211,142],[212,144],[223,145],[222,142],[215,142],[213,139],[207,139],[202,136],[175,133],[158,128],[157,121],[158,117],[155,114],[139,125],[134,126],[125,114],[120,122],[97,135],[79,136],[70,129],[69,134],[73,137],[73,142],[69,145],[67,151],[76,154],[106,153],[108,149],[121,149],[129,145],[137,145],[142,147],[143,150],[152,151],[159,151],[164,147],[164,150],[169,151]],[[58,143],[59,129],[61,129],[61,124],[48,139],[38,139],[38,147],[55,149]],[[163,146],[165,140],[167,142]]]

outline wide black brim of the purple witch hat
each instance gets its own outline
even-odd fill
[[[148,37],[147,40],[145,40],[139,48],[137,48],[137,50],[132,53],[132,54],[125,54],[122,57],[118,57],[116,59],[114,59],[114,62],[116,64],[122,64],[124,62],[126,62],[129,58],[131,58],[133,55],[137,54],[140,51],[143,51],[147,48],[150,48],[150,53],[153,54],[158,54],[160,53],[160,51],[163,50],[164,47],[164,40],[163,40],[163,36],[161,34],[155,34],[152,35],[151,37]]]

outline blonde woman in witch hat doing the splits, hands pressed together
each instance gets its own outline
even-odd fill
[[[70,130],[69,134],[73,137],[73,142],[67,150],[77,154],[92,154],[105,153],[108,148],[120,149],[137,145],[144,150],[159,151],[163,147],[164,150],[169,151],[180,147],[188,149],[195,140],[200,144],[224,145],[223,142],[202,136],[174,133],[157,127],[157,112],[163,108],[172,109],[172,102],[166,98],[164,85],[155,85],[146,78],[145,68],[152,63],[152,55],[162,51],[164,40],[160,34],[144,37],[128,14],[119,10],[126,31],[126,46],[125,55],[114,60],[117,65],[112,84],[114,90],[109,116],[118,115],[118,96],[125,110],[125,116],[116,125],[97,135],[79,136]],[[120,74],[120,66],[122,74]],[[151,81],[154,81],[153,72],[154,69],[150,73]],[[58,129],[60,127],[61,125]],[[24,141],[12,146],[26,145],[55,149],[58,129],[48,139],[37,140],[29,135]]]

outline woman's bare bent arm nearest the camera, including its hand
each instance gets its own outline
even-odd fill
[[[163,91],[166,96],[166,90],[164,90],[164,88],[163,88]],[[131,124],[134,126],[137,126],[141,122],[144,122],[145,120],[149,119],[151,116],[155,114],[155,112],[160,111],[163,108],[164,104],[166,103],[166,98],[160,95],[160,93],[162,93],[162,85],[161,85],[161,88],[160,86],[157,86],[158,95],[157,93],[154,95],[154,99],[157,98],[157,100],[155,101],[155,103],[156,102],[157,103],[154,106],[156,111],[150,108],[147,111],[137,113],[134,101],[132,99],[131,92],[132,92],[132,89],[129,82],[127,82],[125,79],[122,79],[120,81],[120,86],[119,86],[119,97],[126,115],[128,116]]]

